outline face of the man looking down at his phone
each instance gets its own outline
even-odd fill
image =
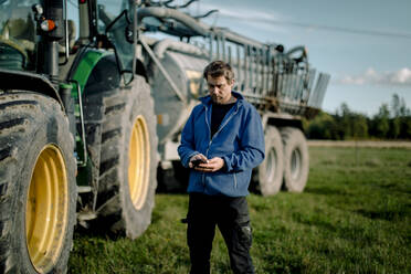
[[[212,77],[207,75],[207,85],[210,96],[215,104],[226,104],[231,98],[231,91],[234,86],[234,80],[228,83],[224,76]]]

